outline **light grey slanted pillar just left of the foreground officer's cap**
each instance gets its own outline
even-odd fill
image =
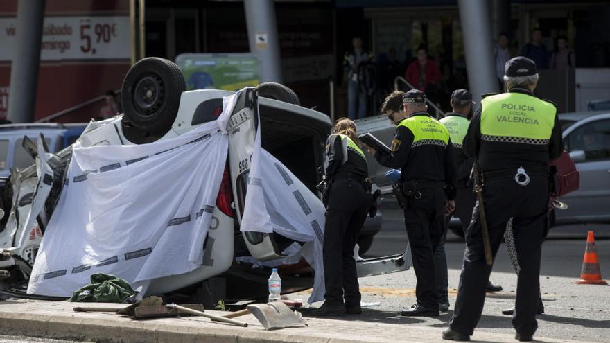
[[[498,79],[491,45],[489,1],[458,0],[464,33],[464,51],[468,83],[473,100],[480,103],[481,94],[498,91]]]

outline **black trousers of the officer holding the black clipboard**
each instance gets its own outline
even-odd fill
[[[443,234],[446,197],[441,188],[421,189],[419,193],[419,199],[407,197],[405,209],[405,226],[417,278],[415,295],[421,306],[438,310],[434,255]]]

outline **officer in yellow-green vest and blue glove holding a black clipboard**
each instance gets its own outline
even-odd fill
[[[444,212],[455,208],[455,188],[449,132],[426,112],[425,99],[421,91],[408,91],[404,111],[390,113],[390,121],[397,125],[390,154],[367,149],[382,166],[401,168],[405,225],[417,276],[417,304],[401,315],[429,317],[439,315],[434,251],[441,240]]]

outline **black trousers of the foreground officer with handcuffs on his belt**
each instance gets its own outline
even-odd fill
[[[521,266],[517,281],[512,324],[517,333],[533,335],[538,324],[539,275],[542,241],[548,233],[548,177],[530,175],[530,184],[519,186],[514,179],[491,179],[483,188],[483,202],[491,252],[495,258],[506,224],[513,217],[517,258]],[[453,331],[472,335],[485,302],[491,267],[485,263],[479,204],[466,233],[466,251],[460,276],[458,299],[451,318]]]

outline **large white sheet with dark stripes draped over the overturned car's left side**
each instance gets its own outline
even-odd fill
[[[214,121],[180,137],[130,146],[75,146],[28,293],[68,297],[91,274],[146,290],[150,279],[202,263],[227,161]]]

